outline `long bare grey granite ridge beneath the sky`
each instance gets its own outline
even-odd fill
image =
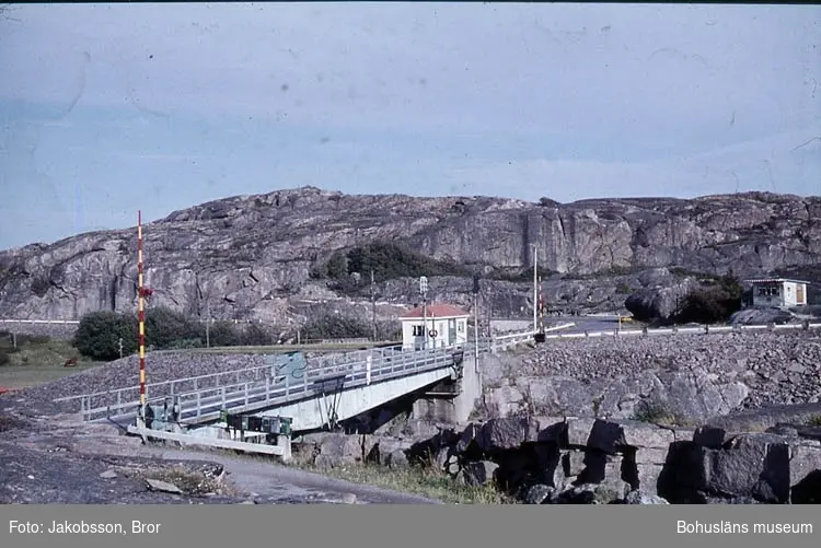
[[[311,268],[336,249],[377,240],[405,242],[485,272],[529,268],[535,244],[540,265],[556,272],[547,282],[548,299],[610,303],[612,310],[626,296],[618,296],[617,285],[646,287],[646,272],[659,267],[710,273],[731,268],[741,276],[818,271],[821,198],[754,193],[559,205],[350,196],[305,187],[204,203],[143,232],[152,303],[195,315],[274,319],[294,302],[333,298],[323,282],[310,279]],[[0,316],[72,319],[95,310],[134,310],[136,247],[130,229],[0,252]],[[599,281],[591,281],[597,275]],[[397,284],[408,285],[380,283],[381,299],[402,301],[407,291]],[[433,299],[471,287],[459,279],[433,285]],[[509,296],[499,296],[507,304],[496,310],[529,304],[528,282],[499,288]]]

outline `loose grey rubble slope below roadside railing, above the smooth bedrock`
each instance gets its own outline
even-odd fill
[[[590,383],[650,371],[698,371],[750,388],[743,409],[821,398],[821,329],[652,337],[597,337],[539,345],[511,376],[562,376]]]

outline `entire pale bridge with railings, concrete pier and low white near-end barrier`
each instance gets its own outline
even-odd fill
[[[115,422],[143,439],[287,459],[292,434],[333,429],[408,395],[446,399],[448,419],[465,421],[482,394],[479,355],[533,337],[529,330],[464,347],[372,348],[326,358],[314,368],[308,366],[301,352],[268,355],[262,366],[148,384],[147,404],[153,418],[142,417],[139,386],[56,401],[77,401],[84,421]]]

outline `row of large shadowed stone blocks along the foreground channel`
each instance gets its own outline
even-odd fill
[[[821,416],[821,405],[816,406]],[[821,428],[761,433],[582,418],[505,418],[440,428],[413,443],[322,434],[301,445],[316,466],[433,467],[495,485],[529,504],[821,502]]]

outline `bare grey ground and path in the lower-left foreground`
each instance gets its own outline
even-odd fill
[[[439,501],[371,486],[327,478],[276,463],[231,456],[199,448],[144,445],[120,435],[116,427],[83,424],[49,418],[26,420],[8,428],[0,443],[0,499],[5,502],[68,503],[230,503],[258,504],[357,503],[437,504]],[[113,466],[151,469],[161,463],[215,463],[239,492],[201,498],[147,492],[142,482],[104,478]]]

